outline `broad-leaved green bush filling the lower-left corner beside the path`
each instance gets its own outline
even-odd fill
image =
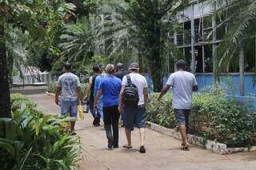
[[[76,169],[81,145],[79,138],[70,136],[65,128],[73,119],[43,115],[29,105],[22,102],[13,110],[13,118],[0,119],[2,168]]]

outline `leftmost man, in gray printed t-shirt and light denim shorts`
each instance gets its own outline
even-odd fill
[[[61,114],[69,113],[70,117],[77,117],[78,102],[82,101],[81,85],[78,77],[70,72],[71,65],[66,63],[64,65],[64,72],[58,77],[58,83],[55,93],[55,103],[61,106]],[[61,95],[60,101],[58,97]],[[74,132],[75,121],[70,121],[70,131],[72,135]]]

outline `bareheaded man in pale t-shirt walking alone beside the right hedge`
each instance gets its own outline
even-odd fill
[[[189,150],[189,143],[186,138],[186,130],[189,125],[189,116],[192,109],[192,93],[198,90],[198,83],[194,74],[186,72],[186,61],[179,60],[176,63],[178,71],[172,73],[162,89],[158,101],[172,87],[173,89],[173,109],[182,133],[182,149]]]

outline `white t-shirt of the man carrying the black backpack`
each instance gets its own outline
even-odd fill
[[[138,105],[144,105],[144,93],[143,93],[143,89],[147,88],[147,83],[146,83],[146,78],[144,76],[142,76],[139,73],[130,73],[130,80],[131,82],[137,86],[138,88],[138,97],[139,97],[139,101],[138,101]],[[124,76],[122,78],[122,85],[127,85],[127,77]]]

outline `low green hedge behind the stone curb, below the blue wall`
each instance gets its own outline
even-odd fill
[[[171,94],[156,99],[158,93],[150,95],[147,105],[148,121],[167,128],[177,127],[171,109]],[[217,140],[229,147],[249,147],[255,143],[256,116],[249,114],[236,101],[226,98],[219,90],[194,93],[190,116],[190,133],[204,136],[206,140]]]

